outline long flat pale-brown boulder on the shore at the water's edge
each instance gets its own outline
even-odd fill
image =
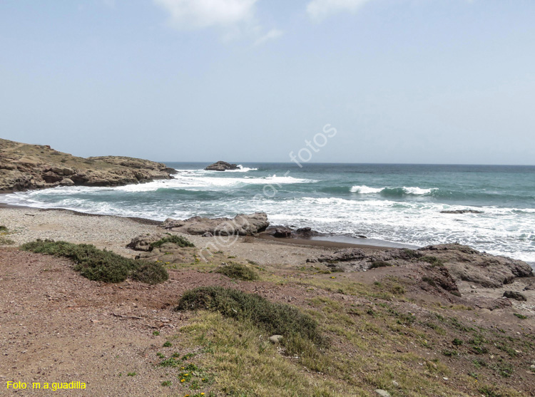
[[[236,215],[234,218],[205,218],[191,217],[187,220],[173,220],[168,218],[160,227],[186,234],[213,234],[214,236],[240,235],[247,236],[266,230],[270,222],[265,212],[255,212],[250,215]]]

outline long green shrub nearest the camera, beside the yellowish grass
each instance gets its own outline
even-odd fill
[[[288,304],[268,301],[256,294],[224,287],[198,287],[185,292],[175,310],[208,309],[223,316],[250,321],[268,334],[282,335],[282,344],[295,352],[303,341],[325,346],[317,322]]]

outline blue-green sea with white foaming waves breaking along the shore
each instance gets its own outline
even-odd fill
[[[362,242],[459,242],[535,264],[535,166],[166,163],[171,180],[55,187],[2,196],[12,205],[165,220],[266,212],[272,225]],[[481,213],[446,214],[475,210]],[[365,241],[364,241],[365,242]]]

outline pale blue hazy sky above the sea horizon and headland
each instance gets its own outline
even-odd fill
[[[535,164],[533,0],[0,1],[0,137],[75,155]]]

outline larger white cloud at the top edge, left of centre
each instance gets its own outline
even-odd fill
[[[178,29],[232,27],[253,18],[257,0],[153,0],[170,14]]]

